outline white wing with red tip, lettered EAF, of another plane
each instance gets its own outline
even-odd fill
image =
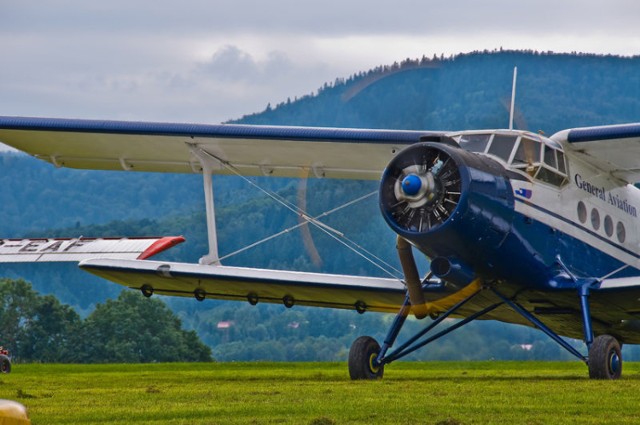
[[[76,262],[95,257],[143,260],[182,242],[182,236],[0,239],[0,263]]]

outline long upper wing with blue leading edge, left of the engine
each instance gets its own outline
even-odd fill
[[[378,179],[421,131],[0,117],[0,142],[72,168],[192,173],[195,150],[245,175]],[[312,174],[311,174],[312,173]]]

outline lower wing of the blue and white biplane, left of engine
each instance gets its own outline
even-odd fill
[[[80,268],[152,294],[396,313],[406,288],[396,279],[219,265],[91,259]]]

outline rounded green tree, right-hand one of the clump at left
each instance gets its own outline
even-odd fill
[[[81,362],[212,361],[211,349],[165,303],[132,291],[98,304],[83,335]]]

